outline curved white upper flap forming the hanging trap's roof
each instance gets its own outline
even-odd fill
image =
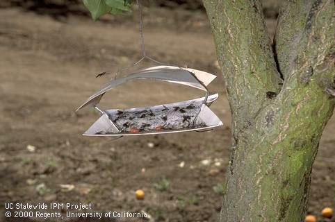
[[[197,69],[162,65],[149,67],[147,69],[136,71],[126,77],[110,80],[108,83],[106,83],[106,85],[103,85],[97,92],[95,92],[95,94],[90,96],[90,98],[88,98],[88,100],[85,101],[85,103],[83,103],[83,105],[81,105],[76,111],[84,108],[85,106],[93,107],[97,105],[105,92],[117,87],[118,85],[126,83],[129,80],[145,78],[154,78],[170,83],[188,85],[190,87],[195,87],[197,89],[207,91],[206,86],[209,85],[209,83],[211,83],[216,78],[216,76]]]

